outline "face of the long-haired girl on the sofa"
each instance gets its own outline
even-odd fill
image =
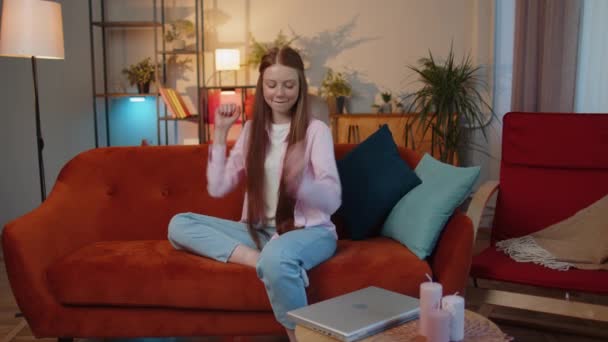
[[[264,100],[274,114],[291,116],[290,112],[298,101],[300,82],[296,69],[273,64],[264,70]]]

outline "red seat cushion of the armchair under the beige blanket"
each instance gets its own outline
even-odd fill
[[[533,263],[517,262],[492,246],[473,257],[471,276],[569,291],[608,294],[606,271],[575,268],[568,271],[552,270]]]

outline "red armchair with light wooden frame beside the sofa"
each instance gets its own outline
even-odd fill
[[[608,272],[556,271],[518,263],[495,243],[538,231],[587,207],[608,193],[608,115],[508,113],[503,122],[500,182],[484,184],[469,206],[479,226],[490,196],[498,192],[491,245],[474,256],[471,277],[577,294],[608,294]],[[598,236],[608,244],[608,237]],[[608,321],[608,307],[515,292],[478,291],[492,305]],[[488,306],[489,305],[489,306]]]

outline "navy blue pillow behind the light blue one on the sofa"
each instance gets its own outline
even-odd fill
[[[337,161],[342,216],[353,240],[377,235],[391,209],[422,181],[401,159],[387,125]]]

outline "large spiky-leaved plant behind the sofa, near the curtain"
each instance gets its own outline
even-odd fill
[[[428,58],[419,60],[419,66],[408,66],[418,75],[422,87],[408,95],[412,98],[409,112],[416,112],[413,120],[418,129],[433,135],[431,150],[436,148],[441,161],[454,164],[462,159],[462,152],[470,145],[469,128],[479,128],[487,141],[486,127],[495,117],[480,91],[486,83],[478,76],[470,56],[460,63],[454,61],[452,48],[443,64],[437,63],[429,51]],[[490,113],[489,120],[485,113]]]

